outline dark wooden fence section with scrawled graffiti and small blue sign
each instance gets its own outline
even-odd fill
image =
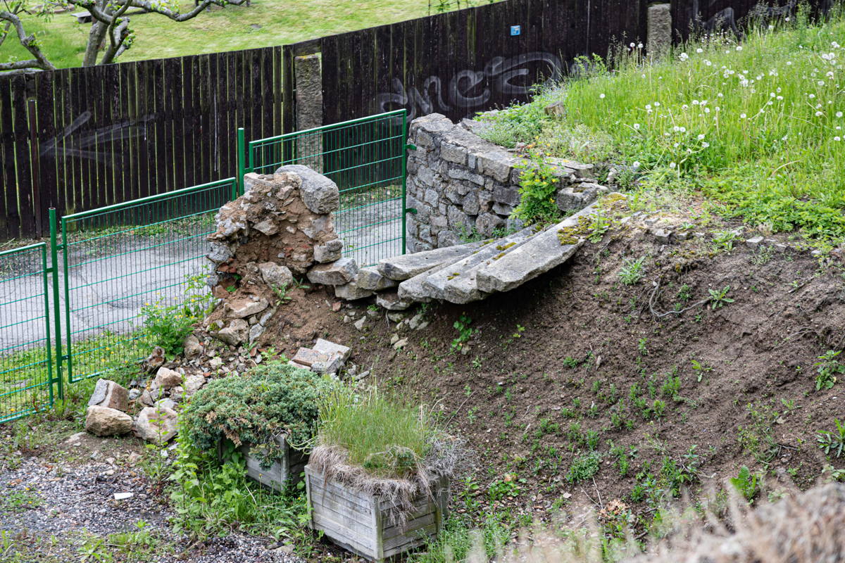
[[[286,46],[286,61],[321,53],[326,123],[402,107],[410,117],[437,111],[461,119],[527,100],[533,84],[562,76],[575,57],[605,56],[615,42],[644,40],[646,4],[485,4]],[[286,122],[293,122],[292,106]]]

